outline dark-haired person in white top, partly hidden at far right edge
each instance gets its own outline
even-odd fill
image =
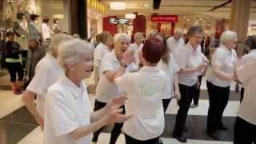
[[[246,64],[252,61],[252,59],[256,58],[256,36],[255,35],[247,38],[246,46],[248,46],[250,52],[249,54],[242,56],[242,59],[241,59],[242,64]],[[240,102],[242,102],[244,90],[245,90],[244,86],[242,85]]]

